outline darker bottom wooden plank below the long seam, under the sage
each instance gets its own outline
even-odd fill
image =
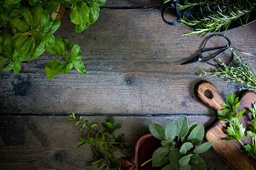
[[[89,117],[102,122],[106,117]],[[169,117],[116,116],[115,122],[123,126],[126,142],[134,145],[136,140],[148,132],[149,123],[166,125]],[[190,116],[191,123],[208,125],[213,117]],[[89,147],[78,149],[75,142],[80,137],[77,127],[68,116],[1,116],[0,118],[0,169],[92,169],[85,166],[90,161]],[[132,147],[131,147],[132,148]],[[229,169],[213,151],[203,154],[209,169]]]

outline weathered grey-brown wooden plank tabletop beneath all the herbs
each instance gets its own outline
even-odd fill
[[[91,169],[85,166],[90,149],[76,147],[80,133],[68,121],[72,112],[97,121],[114,115],[131,144],[152,122],[166,124],[181,115],[213,122],[215,113],[197,100],[195,84],[212,81],[223,96],[237,91],[237,84],[197,77],[207,64],[179,65],[198,52],[204,38],[181,36],[186,27],[166,25],[160,6],[153,0],[110,0],[81,34],[64,20],[58,35],[82,47],[86,75],[72,71],[49,80],[44,67],[50,55],[23,64],[21,74],[0,74],[0,169]],[[256,53],[256,23],[227,35],[235,47]],[[255,57],[248,59],[255,66]],[[208,169],[229,169],[211,150],[203,158]]]

